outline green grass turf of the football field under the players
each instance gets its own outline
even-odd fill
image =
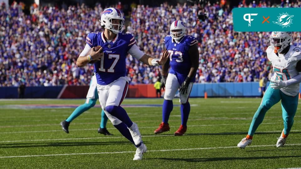
[[[123,104],[162,102],[162,99],[125,99]],[[179,107],[174,107],[170,116],[171,131],[161,135],[153,134],[161,123],[160,107],[125,108],[131,120],[138,124],[149,150],[142,161],[132,160],[135,147],[109,121],[107,128],[114,136],[97,133],[100,108],[92,108],[72,121],[70,133],[66,134],[59,123],[73,108],[20,110],[0,106],[0,168],[301,167],[300,108],[286,146],[276,147],[276,138],[283,129],[278,103],[267,112],[252,145],[243,150],[236,145],[246,136],[261,99],[191,98],[189,102],[194,106],[191,106],[185,136],[173,136],[181,124]],[[82,103],[84,100],[0,100],[0,105]],[[178,99],[174,105],[179,105]],[[101,152],[123,153],[99,154]],[[96,154],[1,158],[72,153]]]

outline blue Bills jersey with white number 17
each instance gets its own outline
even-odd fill
[[[102,33],[89,33],[87,44],[92,48],[103,47],[104,57],[94,64],[97,84],[108,85],[126,74],[125,59],[129,49],[136,43],[129,33],[118,33],[111,42],[106,41]]]

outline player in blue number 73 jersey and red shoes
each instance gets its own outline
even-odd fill
[[[162,66],[162,88],[165,87],[164,102],[162,108],[162,122],[154,131],[160,134],[169,131],[169,115],[173,109],[172,99],[180,89],[181,118],[182,123],[174,133],[182,136],[187,130],[187,120],[190,112],[188,97],[190,95],[195,74],[198,69],[198,41],[192,36],[185,36],[185,24],[182,21],[174,21],[170,27],[170,35],[164,38],[165,48],[170,53],[170,61]],[[171,66],[169,73],[168,68]]]

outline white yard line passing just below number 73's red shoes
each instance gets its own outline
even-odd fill
[[[113,129],[113,128],[110,128]],[[94,129],[95,130],[95,129]],[[282,131],[282,130],[281,130]],[[274,133],[274,132],[281,132],[279,131],[257,131],[256,133]],[[291,130],[291,131],[301,131],[301,130]],[[223,132],[226,133],[226,132]],[[237,133],[244,133],[244,132],[227,132],[227,134],[237,134]],[[247,132],[246,132],[247,133]],[[203,133],[204,135],[208,133]],[[219,133],[213,133],[219,134]],[[202,134],[201,134],[202,135]],[[165,137],[165,136],[174,136],[173,134],[167,135],[145,135],[143,137]],[[184,134],[184,136],[195,136],[192,134]],[[34,142],[34,141],[58,141],[58,140],[90,140],[90,139],[111,139],[111,138],[124,138],[124,136],[115,136],[115,137],[83,137],[83,138],[61,138],[61,139],[39,139],[39,140],[11,140],[11,141],[0,141],[0,143],[11,143],[11,142]]]

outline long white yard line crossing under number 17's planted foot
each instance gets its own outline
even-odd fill
[[[300,144],[287,144],[287,146],[297,146]],[[268,147],[273,145],[259,145],[248,147]],[[149,150],[147,152],[162,152],[162,151],[189,151],[189,150],[208,150],[208,149],[223,149],[223,148],[237,148],[237,146],[229,147],[203,147],[203,148],[184,148],[184,149],[169,149],[169,150]],[[90,154],[119,154],[119,153],[135,153],[136,151],[115,151],[115,152],[94,152],[94,153],[70,153],[70,154],[45,154],[45,155],[27,155],[27,156],[0,156],[0,158],[18,158],[18,157],[41,157],[41,156],[71,156],[71,155],[90,155]]]

